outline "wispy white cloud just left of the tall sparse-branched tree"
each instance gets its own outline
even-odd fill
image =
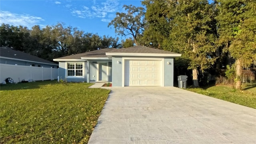
[[[114,15],[114,13],[118,10],[118,1],[117,0],[107,0],[100,4],[94,0],[92,1],[92,6],[82,6],[80,9],[72,9],[72,14],[79,18],[102,18],[102,22],[110,22],[109,19]]]

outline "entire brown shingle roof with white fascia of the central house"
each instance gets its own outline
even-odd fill
[[[179,57],[181,54],[150,48],[146,46],[133,46],[130,48],[104,48],[81,54],[74,54],[56,58],[54,61],[78,61],[78,60],[99,60],[111,59],[112,56],[154,56],[154,57]]]

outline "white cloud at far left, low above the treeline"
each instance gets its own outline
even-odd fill
[[[8,11],[0,11],[0,23],[10,24],[14,26],[32,26],[39,24],[44,19],[37,16],[30,16],[28,14],[14,14]]]

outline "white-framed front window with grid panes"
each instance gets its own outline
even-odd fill
[[[68,63],[68,76],[83,76],[83,64]]]

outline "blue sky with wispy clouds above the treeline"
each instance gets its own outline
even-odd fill
[[[142,6],[140,0],[1,0],[0,23],[43,28],[64,22],[84,32],[117,37],[108,23],[116,12],[124,12],[124,4]]]

